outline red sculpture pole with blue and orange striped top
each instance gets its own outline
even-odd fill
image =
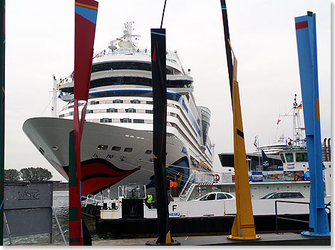
[[[81,135],[85,123],[88,90],[91,81],[93,44],[96,33],[98,2],[75,0],[75,56],[73,131],[69,140],[69,241],[71,246],[83,246],[81,217]],[[79,120],[78,101],[85,100]]]

